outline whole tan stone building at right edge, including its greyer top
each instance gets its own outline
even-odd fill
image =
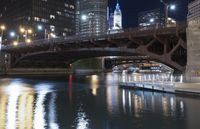
[[[188,5],[186,80],[200,82],[200,0]]]

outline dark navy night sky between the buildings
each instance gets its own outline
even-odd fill
[[[170,0],[169,0],[170,1]],[[169,11],[169,17],[175,18],[177,21],[186,20],[187,4],[192,0],[171,0],[176,4],[175,11]],[[115,9],[117,0],[109,0],[109,7]],[[160,0],[119,0],[122,15],[123,27],[136,27],[138,24],[138,12],[151,10],[155,8],[164,9],[164,5]]]

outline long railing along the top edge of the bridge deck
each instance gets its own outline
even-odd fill
[[[56,44],[56,43],[75,43],[75,42],[87,42],[91,40],[105,40],[109,38],[121,38],[123,35],[130,34],[130,33],[149,33],[152,31],[157,30],[157,32],[163,32],[163,29],[167,28],[169,30],[168,32],[174,31],[174,28],[176,29],[184,29],[187,27],[187,24],[185,22],[177,22],[175,26],[150,26],[150,27],[137,27],[137,28],[127,28],[117,31],[108,31],[107,33],[102,33],[100,35],[74,35],[69,37],[57,37],[57,38],[50,38],[50,39],[40,39],[40,40],[34,40],[31,43],[25,43],[20,42],[17,46],[10,45],[2,45],[2,50],[11,49],[11,48],[21,48],[26,46],[41,46],[41,45],[49,45],[49,44]]]

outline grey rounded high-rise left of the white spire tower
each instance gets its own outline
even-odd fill
[[[107,0],[76,1],[76,34],[100,35],[107,32]]]

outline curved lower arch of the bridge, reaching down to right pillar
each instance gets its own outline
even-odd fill
[[[105,56],[148,56],[150,59],[163,63],[175,70],[183,71],[184,67],[173,62],[169,58],[163,55],[156,55],[147,51],[141,52],[138,49],[133,48],[81,48],[69,51],[44,51],[44,52],[34,52],[30,54],[25,54],[18,58],[13,67],[20,66],[20,62],[24,60],[32,61],[65,61],[71,62],[91,57],[105,57]]]

